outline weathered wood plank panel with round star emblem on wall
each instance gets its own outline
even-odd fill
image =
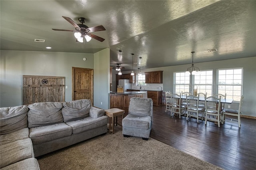
[[[23,104],[65,102],[65,77],[23,75]]]

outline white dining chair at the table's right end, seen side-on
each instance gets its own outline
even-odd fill
[[[240,98],[240,103],[239,103],[239,107],[238,110],[233,110],[233,109],[225,109],[223,112],[223,118],[222,121],[224,122],[232,122],[232,120],[236,120],[238,122],[238,127],[241,127],[241,119],[240,116],[242,114],[242,104],[243,104],[243,100],[244,100],[244,96],[241,96]],[[230,116],[237,116],[237,119],[233,119],[233,118],[226,118],[226,115],[230,115]],[[230,120],[226,120],[226,119],[230,119]],[[236,122],[233,122],[236,123]]]

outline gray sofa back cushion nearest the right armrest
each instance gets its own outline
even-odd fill
[[[91,101],[87,99],[64,102],[62,115],[64,122],[70,122],[89,116]]]

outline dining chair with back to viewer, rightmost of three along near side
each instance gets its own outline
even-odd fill
[[[218,127],[220,127],[220,123],[223,124],[222,121],[222,110],[220,109],[220,99],[221,98],[216,98],[214,96],[210,96],[205,98],[205,124],[207,123],[207,120],[212,120],[216,122],[218,121]],[[207,118],[208,115],[216,116],[216,118]]]

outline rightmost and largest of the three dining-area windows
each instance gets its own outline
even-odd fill
[[[218,93],[227,99],[240,101],[243,86],[243,68],[218,69]]]

